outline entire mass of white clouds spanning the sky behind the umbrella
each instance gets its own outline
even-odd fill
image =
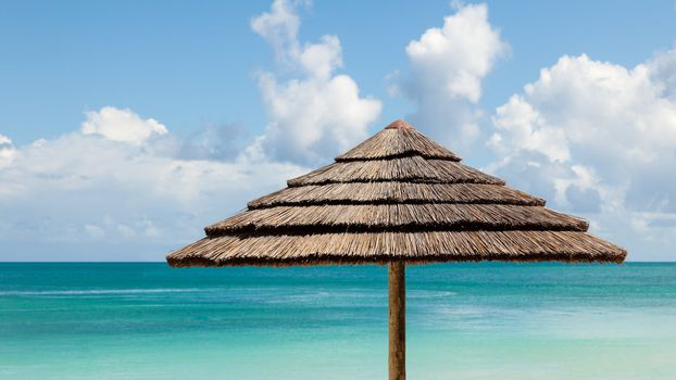
[[[0,135],[0,240],[26,252],[0,261],[138,258],[52,257],[32,251],[36,241],[143,242],[158,248],[143,257],[161,259],[204,225],[368,137],[383,102],[337,74],[345,68],[337,36],[300,41],[303,7],[275,0],[250,21],[276,69],[255,75],[268,123],[245,143],[229,143],[227,128],[180,137],[113,105],[86,112],[79,128],[53,139],[15,147]],[[630,259],[676,258],[676,50],[635,67],[562,55],[484,110],[483,80],[511,48],[486,4],[453,7],[402,47],[410,67],[393,88],[415,105],[413,124],[470,164],[473,152],[492,152],[486,170],[587,217],[592,233],[627,246]]]

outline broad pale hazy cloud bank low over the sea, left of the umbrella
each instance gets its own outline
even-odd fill
[[[103,112],[107,110],[108,112]],[[88,121],[91,119],[89,113]],[[135,115],[104,107],[93,114]],[[120,119],[117,119],[120,121]],[[0,240],[15,242],[32,255],[3,258],[67,259],[36,252],[36,244],[153,243],[147,258],[161,259],[165,250],[200,237],[205,225],[245,206],[255,194],[284,187],[304,169],[276,162],[185,157],[184,144],[166,129],[161,139],[139,145],[84,130],[52,140],[13,148],[11,163],[0,167]],[[0,140],[7,144],[9,139]],[[132,142],[132,143],[129,143]],[[181,142],[181,141],[178,141]],[[159,249],[160,246],[160,249]],[[164,248],[164,249],[162,249]],[[139,252],[116,252],[108,259],[136,259]],[[101,259],[97,252],[91,257]]]

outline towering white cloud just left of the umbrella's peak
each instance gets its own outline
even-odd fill
[[[270,123],[250,151],[302,163],[337,155],[367,137],[367,126],[380,114],[380,101],[362,98],[342,65],[340,41],[323,36],[320,42],[298,40],[299,17],[289,1],[275,0],[268,13],[251,21],[252,29],[275,50],[277,60],[298,74],[280,81],[275,74],[259,75]]]

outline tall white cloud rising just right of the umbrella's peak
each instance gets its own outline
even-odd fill
[[[480,136],[483,113],[475,104],[481,80],[509,48],[489,23],[486,4],[454,8],[442,27],[429,28],[409,43],[412,78],[401,86],[417,104],[411,119],[462,150]]]

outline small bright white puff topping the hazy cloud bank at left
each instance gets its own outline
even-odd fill
[[[87,112],[87,119],[83,122],[80,130],[84,135],[99,135],[109,140],[133,144],[140,144],[153,136],[167,132],[166,127],[153,118],[142,119],[129,109],[113,106]]]

